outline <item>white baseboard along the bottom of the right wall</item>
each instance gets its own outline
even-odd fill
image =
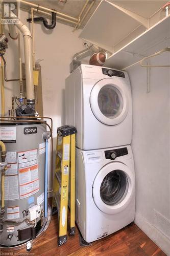
[[[145,233],[147,236],[158,245],[167,256],[170,256],[170,240],[164,236],[155,226],[149,223],[142,215],[135,214],[135,224]]]

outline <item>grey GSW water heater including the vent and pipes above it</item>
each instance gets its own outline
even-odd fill
[[[16,15],[11,12],[11,17],[16,18]],[[16,32],[16,27],[23,36],[26,90],[23,90],[22,84],[20,36]],[[3,93],[0,117],[0,246],[5,250],[26,245],[27,250],[30,250],[31,243],[47,228],[51,218],[51,210],[47,205],[47,145],[48,139],[52,136],[52,125],[44,121],[51,118],[38,117],[36,109],[38,98],[35,97],[35,92],[38,91],[36,86],[40,74],[37,74],[34,67],[31,31],[20,19],[13,26],[10,25],[9,29],[8,35],[12,39],[18,38],[19,78],[7,79],[7,63],[4,56],[8,49],[8,38],[1,25],[0,57]],[[4,80],[19,81],[19,95],[12,97],[12,110],[8,112],[5,112],[7,110],[4,100]],[[47,126],[50,132],[46,131]],[[53,147],[53,142],[51,145]]]

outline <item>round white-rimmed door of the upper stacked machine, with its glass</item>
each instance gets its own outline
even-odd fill
[[[94,116],[104,124],[115,125],[122,122],[128,113],[127,93],[121,84],[106,78],[97,82],[91,90],[90,106]]]

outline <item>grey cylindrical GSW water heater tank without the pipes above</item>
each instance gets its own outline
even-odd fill
[[[1,193],[1,247],[35,239],[47,224],[45,141],[49,133],[41,122],[2,122],[1,141],[7,163]],[[3,191],[2,191],[3,190]]]

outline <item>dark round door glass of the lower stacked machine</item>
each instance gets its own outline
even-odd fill
[[[112,170],[103,179],[100,196],[107,205],[117,205],[124,200],[128,191],[128,178],[122,170]]]

